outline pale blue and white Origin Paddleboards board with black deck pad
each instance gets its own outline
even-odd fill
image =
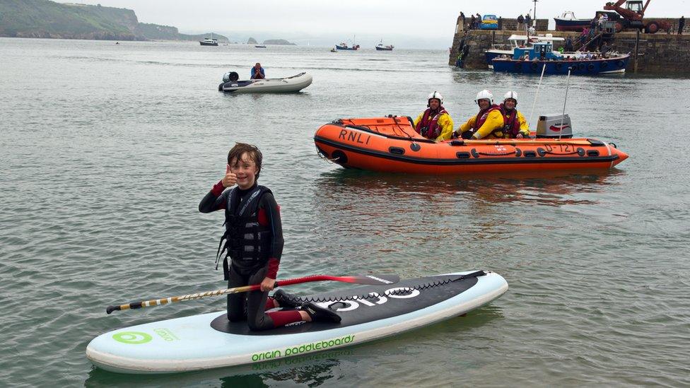
[[[122,373],[170,373],[257,363],[402,333],[474,310],[503,295],[491,271],[469,271],[309,295],[342,317],[250,331],[223,312],[140,324],[101,334],[86,347],[96,366]]]

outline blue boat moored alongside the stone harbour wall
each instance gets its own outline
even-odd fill
[[[512,57],[497,57],[491,60],[493,71],[505,73],[568,74],[595,76],[597,74],[624,73],[630,54],[575,52],[561,54],[554,52],[553,43],[535,42],[532,47],[517,47]]]

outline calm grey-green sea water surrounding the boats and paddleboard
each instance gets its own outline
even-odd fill
[[[216,91],[256,61],[314,83]],[[576,134],[630,154],[610,172],[382,175],[317,156],[320,125],[416,116],[434,90],[456,125],[484,88],[517,90],[530,115],[538,78],[447,62],[433,50],[0,38],[0,386],[689,385],[690,81],[571,78]],[[534,117],[561,112],[565,86],[545,78]],[[491,269],[510,290],[467,317],[301,358],[152,377],[94,368],[84,351],[98,334],[223,309],[104,311],[224,287],[222,214],[197,205],[235,141],[262,149],[259,182],[281,205],[279,277]]]

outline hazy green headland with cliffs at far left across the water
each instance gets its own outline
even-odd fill
[[[206,34],[210,35],[210,34]],[[131,9],[48,0],[0,0],[0,36],[100,40],[199,40],[168,25],[139,23]],[[222,35],[215,35],[227,42]]]

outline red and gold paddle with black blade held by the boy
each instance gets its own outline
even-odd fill
[[[400,281],[397,275],[358,275],[358,276],[328,276],[328,275],[312,275],[303,278],[294,278],[284,281],[276,281],[275,287],[290,286],[291,284],[308,283],[310,281],[341,281],[344,283],[356,284],[371,284],[371,285],[386,285],[393,284]],[[259,290],[260,285],[254,284],[252,286],[242,286],[235,288],[222,288],[221,290],[206,291],[204,293],[194,293],[189,295],[172,296],[170,298],[160,298],[152,300],[142,300],[141,302],[131,302],[125,305],[108,306],[105,309],[107,314],[117,310],[134,310],[144,307],[153,307],[158,305],[167,305],[168,303],[184,302],[185,300],[196,300],[206,298],[207,296],[218,296],[225,294],[246,293],[247,291]]]

